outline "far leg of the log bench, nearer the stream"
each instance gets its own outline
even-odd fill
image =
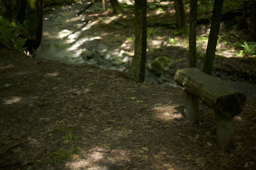
[[[198,98],[184,90],[184,117],[185,119],[193,122],[193,124],[198,124],[199,112],[198,112]]]

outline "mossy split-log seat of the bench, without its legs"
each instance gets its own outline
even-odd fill
[[[240,114],[244,108],[246,97],[243,92],[199,69],[179,70],[176,72],[174,80],[207,106],[222,113],[223,116],[234,117]]]

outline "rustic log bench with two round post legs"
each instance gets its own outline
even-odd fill
[[[244,108],[246,97],[218,78],[196,68],[186,68],[175,73],[174,80],[184,87],[184,117],[198,123],[198,99],[215,112],[217,146],[234,147],[233,117]]]

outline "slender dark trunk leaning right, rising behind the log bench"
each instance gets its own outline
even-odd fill
[[[204,68],[203,71],[206,74],[212,75],[213,60],[216,51],[218,35],[220,30],[221,11],[223,6],[223,0],[214,0],[212,11],[212,24],[208,38],[208,44],[206,48]]]

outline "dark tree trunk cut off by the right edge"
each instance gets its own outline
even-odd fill
[[[250,28],[251,39],[256,42],[256,0],[250,1]]]

